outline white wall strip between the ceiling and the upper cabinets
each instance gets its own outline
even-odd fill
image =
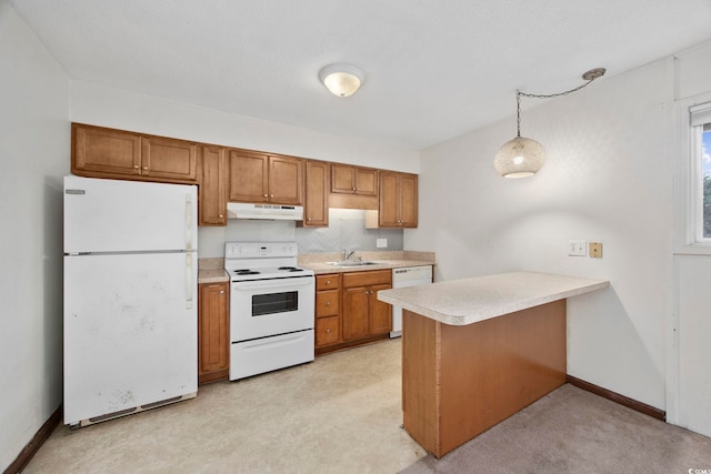
[[[71,120],[249,150],[419,172],[419,152],[88,82],[72,82]]]

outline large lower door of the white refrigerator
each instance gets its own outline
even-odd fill
[[[64,256],[66,424],[197,392],[191,256]]]

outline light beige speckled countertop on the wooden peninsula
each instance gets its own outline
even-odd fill
[[[514,272],[378,292],[378,300],[450,325],[467,325],[609,286],[607,280]]]

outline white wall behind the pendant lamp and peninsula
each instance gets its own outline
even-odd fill
[[[438,280],[515,270],[609,279],[610,289],[569,302],[568,372],[661,410],[671,313],[671,69],[662,60],[568,97],[524,98],[539,104],[524,109],[522,135],[548,150],[533,178],[503,179],[492,165],[515,134],[514,118],[424,150],[420,225],[404,239],[405,249],[437,252]],[[602,242],[603,259],[568,256],[571,239]]]

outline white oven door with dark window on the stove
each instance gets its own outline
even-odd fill
[[[231,342],[313,329],[314,289],[313,276],[232,282]]]

